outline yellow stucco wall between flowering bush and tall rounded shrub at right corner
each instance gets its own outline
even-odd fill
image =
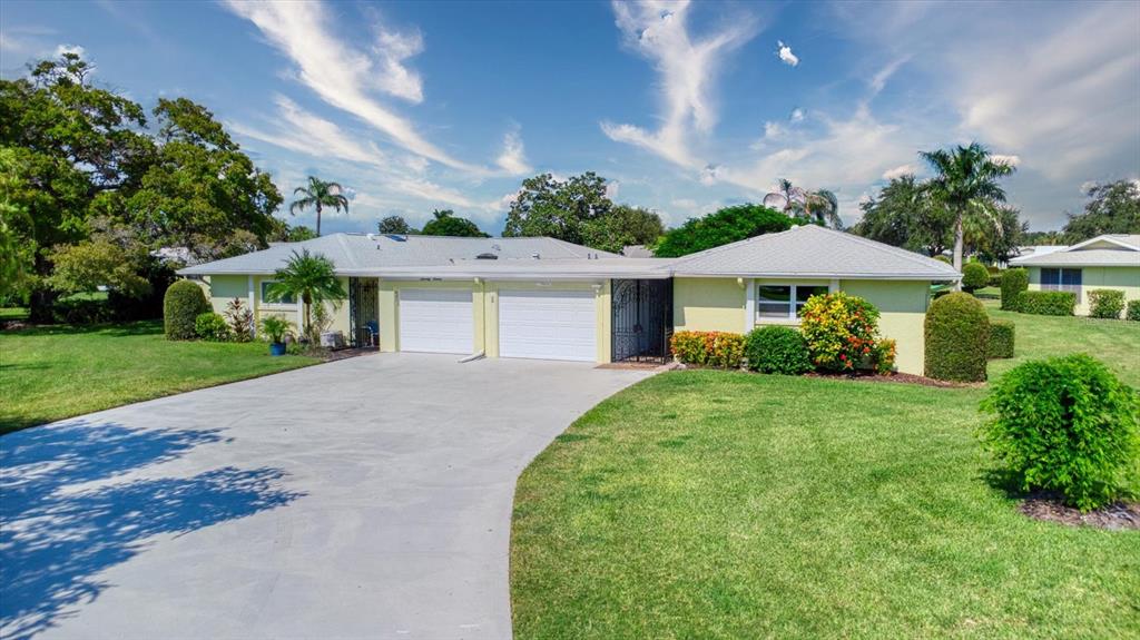
[[[842,280],[839,288],[879,309],[879,333],[896,342],[895,366],[904,374],[921,376],[926,359],[923,322],[930,282]]]

